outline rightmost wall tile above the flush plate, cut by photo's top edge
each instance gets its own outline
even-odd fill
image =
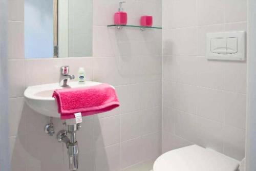
[[[246,0],[226,0],[225,3],[226,23],[244,22],[247,20]]]

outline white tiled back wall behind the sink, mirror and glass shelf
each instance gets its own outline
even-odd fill
[[[161,25],[161,1],[129,0],[129,24],[154,15]],[[58,82],[59,67],[79,67],[87,80],[112,84],[120,108],[83,119],[78,132],[79,170],[150,170],[161,154],[162,31],[107,28],[118,1],[93,0],[93,57],[24,59],[24,1],[9,0],[9,104],[11,167],[19,171],[68,169],[67,149],[44,133],[49,118],[24,102],[26,87]],[[25,21],[26,22],[26,21]],[[44,48],[44,47],[42,47]],[[54,119],[55,131],[62,122]]]

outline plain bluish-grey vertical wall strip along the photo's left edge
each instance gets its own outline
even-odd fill
[[[0,170],[9,168],[9,139],[8,139],[8,1],[0,0]]]

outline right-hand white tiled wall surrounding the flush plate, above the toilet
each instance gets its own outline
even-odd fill
[[[241,30],[246,0],[163,0],[163,152],[196,143],[244,157],[246,61],[205,58],[206,33]]]

